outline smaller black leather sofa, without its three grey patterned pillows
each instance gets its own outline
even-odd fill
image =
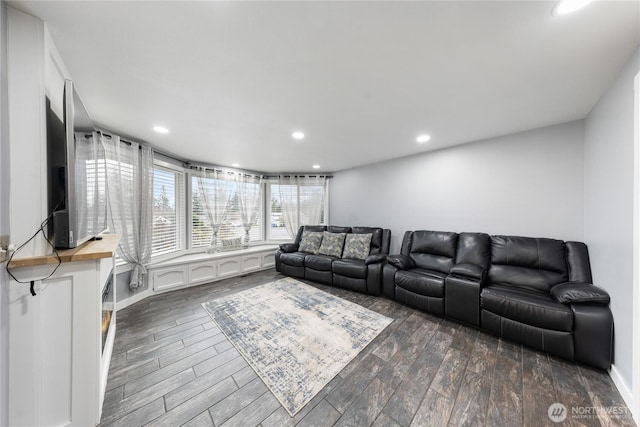
[[[341,251],[339,255],[325,255],[300,250],[304,232],[371,234],[371,241],[367,254],[362,259],[343,258]],[[382,266],[389,254],[390,240],[391,231],[379,227],[301,226],[293,243],[282,244],[276,250],[276,270],[287,276],[380,295]]]

